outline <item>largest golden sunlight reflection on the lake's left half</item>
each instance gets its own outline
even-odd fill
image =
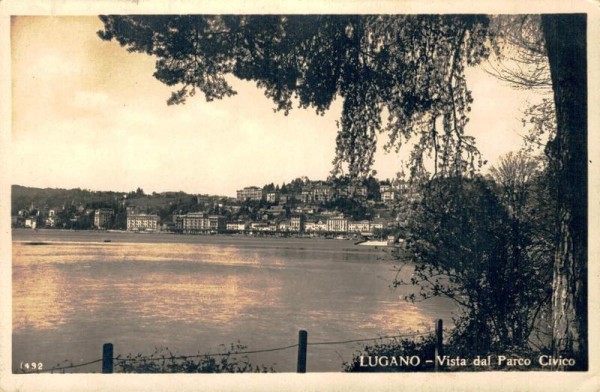
[[[80,246],[66,252],[54,246],[39,247],[41,252],[35,252],[36,247],[31,253],[25,247],[15,246],[14,329],[56,328],[70,317],[74,306],[87,314],[122,309],[125,314],[142,319],[186,323],[201,319],[223,324],[253,306],[273,307],[280,298],[281,286],[268,274],[243,277],[227,273],[227,267],[232,266],[277,267],[282,264],[279,259],[261,264],[258,253],[241,255],[232,247],[135,245],[113,247],[111,255],[98,252],[94,247],[86,248],[88,254],[82,255],[78,252]],[[52,254],[61,262],[49,262],[53,258],[48,256]],[[92,257],[101,264],[89,265],[87,260]],[[146,268],[148,263],[164,260],[171,262],[158,269]],[[106,266],[106,263],[118,262],[128,264]],[[203,267],[220,268],[195,270],[190,263],[196,262]]]

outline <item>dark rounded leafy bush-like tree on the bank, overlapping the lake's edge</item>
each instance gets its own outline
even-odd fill
[[[462,355],[527,347],[548,300],[544,260],[528,257],[526,231],[513,230],[492,185],[482,178],[429,183],[407,230],[413,273],[395,282],[420,287],[409,300],[444,296],[458,304],[454,341]]]

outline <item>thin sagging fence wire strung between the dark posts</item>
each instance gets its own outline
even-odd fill
[[[307,346],[324,346],[324,345],[335,345],[335,344],[348,344],[348,343],[360,343],[360,342],[371,342],[371,341],[377,341],[377,340],[383,340],[383,339],[399,339],[399,338],[414,338],[414,337],[418,337],[418,336],[426,336],[426,335],[430,335],[432,332],[415,332],[415,333],[410,333],[410,334],[403,334],[403,335],[393,335],[393,336],[379,336],[376,338],[363,338],[363,339],[352,339],[352,340],[340,340],[340,341],[330,341],[330,342],[307,342]],[[142,362],[142,361],[163,361],[163,360],[187,360],[190,358],[206,358],[206,357],[223,357],[223,356],[230,356],[230,355],[245,355],[245,354],[259,354],[259,353],[267,353],[267,352],[274,352],[274,351],[283,351],[283,350],[289,350],[291,348],[294,347],[298,347],[298,343],[296,344],[291,344],[289,346],[283,346],[283,347],[275,347],[275,348],[268,348],[268,349],[262,349],[262,350],[248,350],[248,351],[232,351],[232,352],[223,352],[223,353],[207,353],[207,354],[194,354],[194,355],[178,355],[178,356],[174,356],[174,355],[169,355],[169,356],[165,356],[165,355],[161,355],[159,357],[154,357],[154,356],[140,356],[140,357],[135,357],[135,358],[122,358],[120,355],[116,356],[113,359],[113,361],[118,361],[118,362]],[[94,361],[90,361],[90,362],[84,362],[84,363],[80,363],[77,365],[69,365],[69,366],[63,366],[63,367],[54,367],[54,368],[50,368],[50,369],[42,369],[42,370],[32,370],[32,371],[23,371],[24,373],[30,374],[30,373],[46,373],[46,372],[55,372],[55,371],[59,371],[59,370],[66,370],[66,369],[74,369],[74,368],[79,368],[79,367],[83,367],[83,366],[87,366],[87,365],[92,365],[94,363],[98,363],[98,362],[102,362],[102,358],[100,359],[96,359]]]

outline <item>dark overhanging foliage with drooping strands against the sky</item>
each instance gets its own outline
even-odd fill
[[[343,100],[334,172],[367,175],[380,133],[388,149],[412,136],[414,167],[432,154],[435,171],[481,163],[465,134],[472,97],[465,67],[489,55],[481,15],[102,16],[105,40],[155,56],[154,76],[177,86],[168,103],[199,90],[235,94],[226,76],[256,81],[276,110],[294,103],[324,113]],[[386,121],[382,121],[383,116]]]

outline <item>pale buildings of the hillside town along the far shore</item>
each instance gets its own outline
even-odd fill
[[[129,194],[115,194],[112,203],[72,202],[50,207],[32,201],[28,208],[15,211],[12,226],[138,233],[383,237],[403,225],[406,216],[400,207],[415,199],[404,181],[380,182],[373,177],[362,182],[299,178],[281,187],[248,186],[237,190],[235,198],[184,195],[187,199],[179,195],[177,200],[167,202],[171,196],[168,192],[145,195],[138,188]]]

